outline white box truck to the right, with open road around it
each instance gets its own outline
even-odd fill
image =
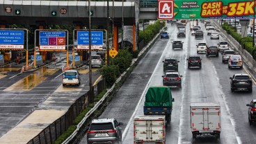
[[[221,106],[216,103],[191,103],[191,132],[193,141],[200,135],[214,135],[217,140],[221,134]]]

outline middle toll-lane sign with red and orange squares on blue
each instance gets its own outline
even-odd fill
[[[40,50],[65,50],[65,31],[40,31]]]

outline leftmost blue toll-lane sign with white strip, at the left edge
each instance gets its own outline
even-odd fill
[[[24,30],[0,30],[1,49],[23,49]]]

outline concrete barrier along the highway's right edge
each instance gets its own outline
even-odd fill
[[[246,64],[249,66],[249,69],[253,71],[253,73],[256,73],[256,61],[253,59],[253,56],[248,53],[243,47],[237,42],[236,39],[234,39],[231,35],[227,34],[223,28],[221,28],[220,24],[218,24],[218,21],[213,20],[214,26],[220,31],[220,34],[224,39],[227,40],[227,42],[232,46],[232,49],[234,51],[237,51],[241,57],[243,57],[243,61],[246,62]]]

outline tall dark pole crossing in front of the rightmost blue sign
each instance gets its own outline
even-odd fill
[[[92,88],[92,44],[91,44],[91,30],[90,30],[90,0],[89,0],[89,87],[90,87],[90,102],[93,102],[93,88]]]

